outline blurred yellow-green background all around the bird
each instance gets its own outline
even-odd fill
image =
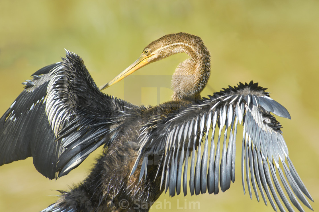
[[[200,36],[211,51],[212,74],[203,96],[253,79],[288,109],[292,120],[279,118],[284,138],[315,200],[312,206],[319,210],[318,1],[1,0],[0,113],[23,90],[21,82],[60,61],[64,48],[84,59],[99,86],[134,62],[148,43],[180,31]],[[174,55],[134,75],[171,75],[185,58]],[[125,96],[123,87],[122,81],[105,92],[141,104]],[[143,104],[157,104],[156,90],[136,90],[140,92]],[[163,89],[160,100],[170,95]],[[39,174],[31,158],[0,167],[0,211],[46,208],[56,201],[56,190],[67,190],[85,178],[100,151],[57,181]],[[255,196],[250,200],[243,195],[240,151],[239,137],[237,180],[225,193],[173,198],[163,194],[155,204],[163,202],[164,207],[165,201],[171,202],[171,209],[179,210],[178,206],[185,209],[185,202],[188,209],[189,202],[198,201],[202,211],[272,211],[270,204],[266,207]]]

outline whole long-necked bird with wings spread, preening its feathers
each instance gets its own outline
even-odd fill
[[[189,58],[175,69],[172,100],[136,106],[101,92],[139,68],[181,52]],[[279,198],[294,211],[279,175],[296,209],[304,211],[298,198],[313,210],[308,202],[313,198],[289,158],[282,126],[271,114],[290,119],[286,108],[253,81],[202,98],[210,74],[204,42],[184,32],[151,42],[100,88],[82,58],[66,50],[61,62],[41,68],[23,83],[23,92],[0,118],[0,165],[32,156],[41,174],[57,179],[104,145],[86,179],[61,191],[60,199],[42,211],[148,211],[164,191],[174,196],[181,188],[184,195],[188,190],[199,195],[218,194],[219,186],[222,192],[229,189],[242,123],[244,193],[247,186],[250,198],[254,192],[259,201],[259,190],[275,211],[285,211]],[[137,207],[141,204],[146,207]]]

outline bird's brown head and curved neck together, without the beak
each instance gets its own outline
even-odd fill
[[[168,56],[185,52],[189,55],[180,63],[172,79],[173,100],[183,99],[193,101],[200,99],[210,76],[210,54],[202,39],[187,33],[165,35],[145,47],[151,54],[152,60],[157,61]]]

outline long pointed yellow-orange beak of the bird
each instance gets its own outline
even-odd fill
[[[133,72],[135,72],[137,69],[142,68],[143,66],[153,62],[153,61],[147,61],[147,58],[151,57],[151,55],[146,56],[145,54],[142,54],[132,65],[130,65],[128,68],[126,68],[124,71],[122,71],[119,75],[117,75],[114,79],[109,81],[107,84],[100,86],[100,91],[102,91],[105,88],[108,88],[109,86],[117,83],[118,81],[121,81],[125,77],[129,76]]]

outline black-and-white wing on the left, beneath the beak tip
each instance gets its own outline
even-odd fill
[[[1,117],[0,165],[32,156],[35,168],[53,179],[108,142],[112,117],[128,103],[100,92],[76,54],[67,51],[62,59],[26,80]]]

